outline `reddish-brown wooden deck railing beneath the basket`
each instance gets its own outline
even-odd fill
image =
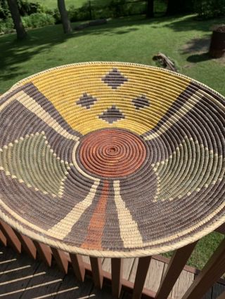
[[[221,225],[217,230],[221,234],[225,234],[225,224]],[[15,232],[5,222],[0,221],[0,241],[4,246],[11,246],[17,253],[26,251],[34,260],[39,257],[44,260],[46,265],[51,267],[51,261],[54,258],[60,270],[67,274],[69,263],[72,264],[75,276],[79,281],[84,281],[85,274],[92,275],[94,284],[97,288],[102,288],[103,281],[108,281],[112,285],[112,291],[115,298],[120,297],[122,288],[133,292],[133,299],[141,298],[169,298],[169,293],[172,291],[176,280],[181,271],[184,269],[188,258],[190,257],[197,242],[189,244],[174,252],[167,271],[162,278],[160,287],[157,293],[144,288],[148,267],[151,257],[139,258],[138,267],[136,270],[136,279],[134,283],[122,277],[123,259],[111,259],[111,273],[105,272],[102,269],[100,258],[90,258],[91,265],[85,263],[81,255],[68,254],[56,248],[50,248],[37,241],[32,241],[30,238]],[[217,250],[214,252],[210,260],[203,268],[203,271],[193,281],[193,284],[188,288],[182,298],[184,299],[200,299],[207,293],[208,289],[216,282],[225,272],[225,239],[221,241]],[[219,299],[225,298],[225,292],[219,296]]]

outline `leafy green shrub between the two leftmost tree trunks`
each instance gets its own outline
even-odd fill
[[[22,21],[25,28],[37,28],[55,24],[53,15],[47,13],[32,13],[32,15],[23,17]]]

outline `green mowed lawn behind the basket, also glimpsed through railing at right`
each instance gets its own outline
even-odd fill
[[[155,65],[159,51],[175,60],[179,72],[225,95],[225,60],[207,55],[211,27],[221,20],[199,22],[182,18],[143,17],[110,20],[70,35],[61,25],[29,31],[29,39],[15,41],[15,34],[0,37],[0,93],[16,81],[49,67],[84,61],[124,61]],[[202,268],[223,237],[210,234],[195,249],[189,265]]]

